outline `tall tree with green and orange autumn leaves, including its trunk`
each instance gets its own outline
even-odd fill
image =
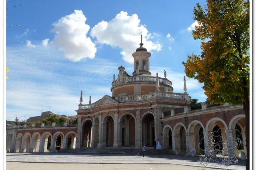
[[[244,106],[249,169],[249,1],[207,0],[205,9],[197,3],[194,15],[198,25],[192,34],[202,40],[202,52],[183,62],[186,75],[204,83],[211,103]]]

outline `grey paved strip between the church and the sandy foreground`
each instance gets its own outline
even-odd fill
[[[38,162],[38,163],[90,163],[90,164],[180,164],[197,166],[198,157],[177,155],[113,155],[113,154],[76,154],[76,153],[6,153],[6,161]],[[199,168],[200,167],[200,168]],[[213,164],[215,169],[245,170],[245,161],[239,160],[238,164],[225,167]]]

